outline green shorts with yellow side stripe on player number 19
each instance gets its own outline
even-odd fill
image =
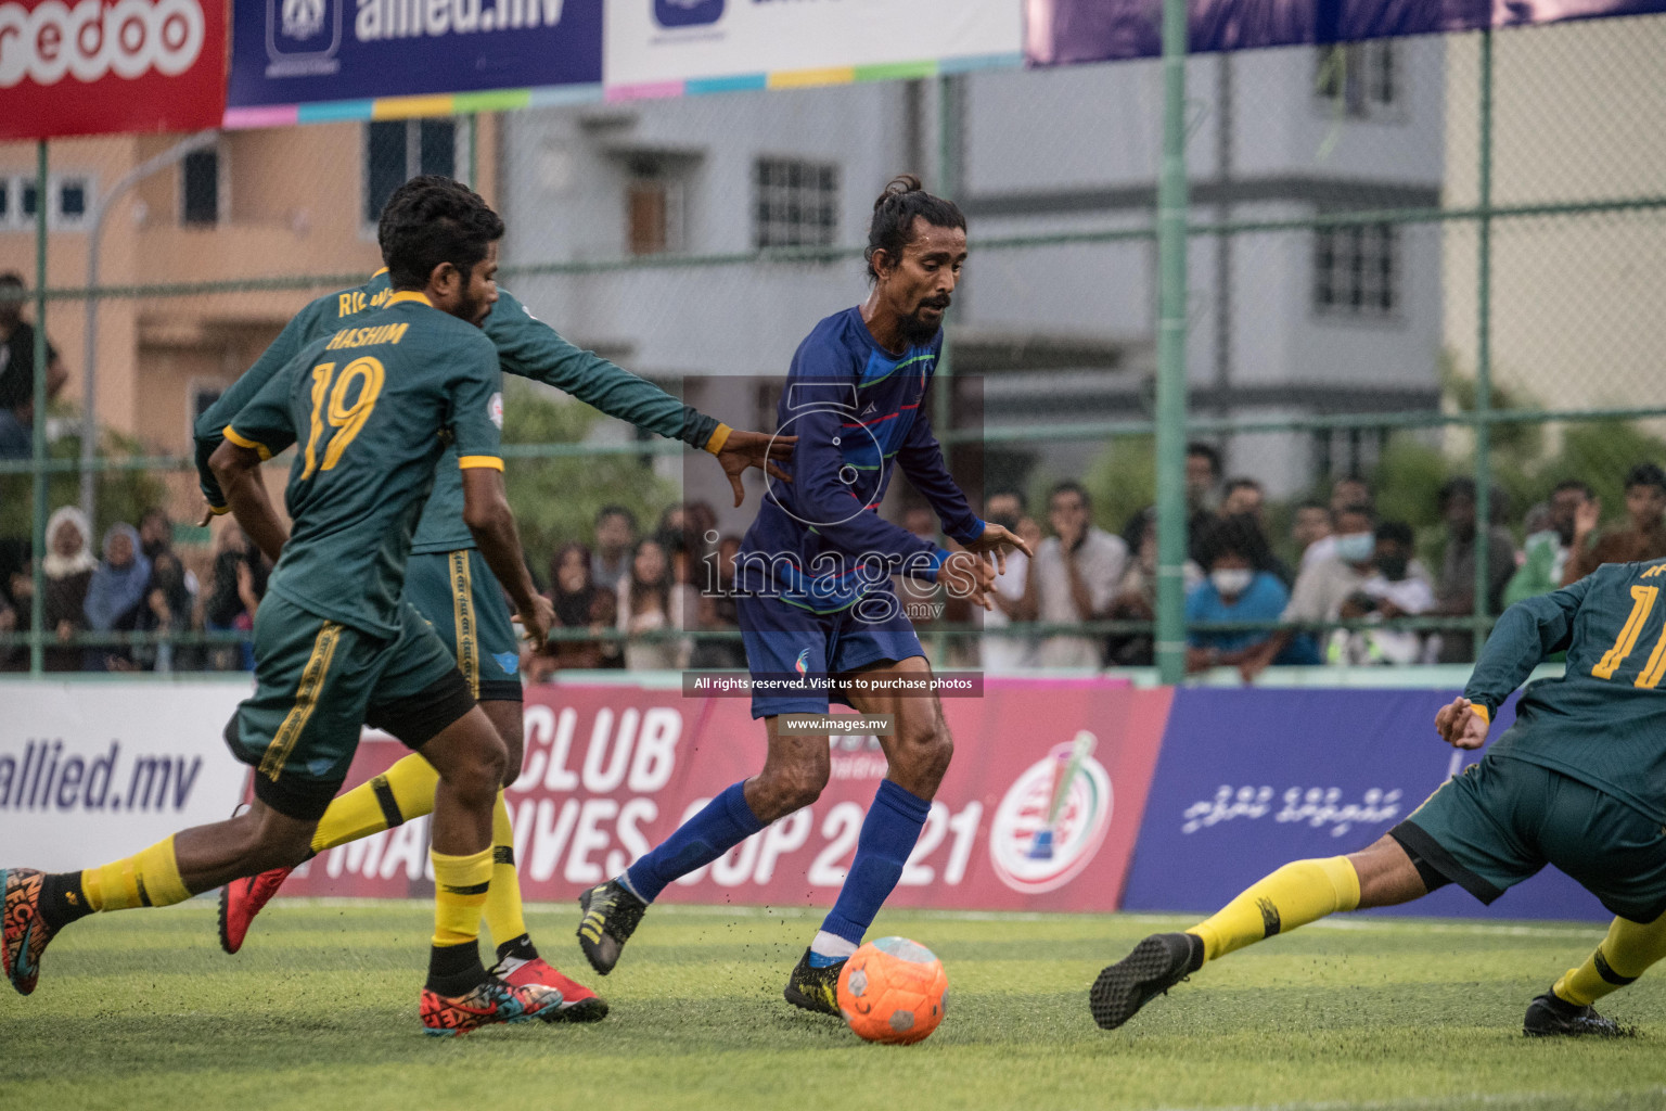
[[[365,725],[420,748],[475,706],[433,628],[400,606],[397,640],[267,595],[255,615],[255,693],[225,728],[255,768],[255,798],[317,820],[347,780]]]

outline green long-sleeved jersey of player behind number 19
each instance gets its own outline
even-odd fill
[[[392,293],[388,275],[382,270],[357,290],[342,290],[312,301],[295,315],[255,365],[197,420],[197,475],[203,496],[215,511],[225,511],[225,496],[208,470],[208,456],[220,446],[227,421],[303,346],[338,328],[360,325],[362,318],[387,305]],[[608,416],[618,416],[638,428],[670,440],[683,440],[696,448],[705,448],[718,428],[716,420],[683,405],[651,381],[615,366],[593,351],[573,346],[501,288],[498,303],[481,328],[496,346],[498,365],[505,373],[548,383]],[[458,551],[473,546],[475,538],[463,526],[463,478],[455,456],[448,455],[435,471],[433,493],[416,526],[413,550]]]

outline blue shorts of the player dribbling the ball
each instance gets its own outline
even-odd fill
[[[850,675],[876,663],[925,656],[915,626],[903,616],[890,583],[875,586],[838,613],[811,613],[780,598],[740,595],[736,600],[746,670],[753,678],[780,675]],[[838,693],[753,695],[751,716],[826,713],[828,703],[848,706]]]

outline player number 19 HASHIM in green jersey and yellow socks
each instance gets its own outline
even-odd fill
[[[370,723],[420,751],[440,781],[423,1028],[455,1036],[558,1011],[558,989],[506,983],[480,961],[508,751],[440,635],[402,596],[435,466],[450,455],[460,516],[526,635],[541,643],[550,628],[503,491],[498,353],[478,328],[498,300],[501,237],[498,215],[453,182],[402,193],[382,215],[383,306],[303,345],[225,426],[208,460],[217,490],[277,563],[255,620],[257,690],[225,730],[255,770],[255,801],[102,868],[0,871],[0,964],[22,994],[53,934],[87,914],[183,903],[305,859]],[[290,445],[293,528],[258,473]]]

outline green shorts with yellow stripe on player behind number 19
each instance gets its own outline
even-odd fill
[[[480,701],[521,701],[520,638],[503,588],[480,551],[412,555],[405,601],[428,618]]]

